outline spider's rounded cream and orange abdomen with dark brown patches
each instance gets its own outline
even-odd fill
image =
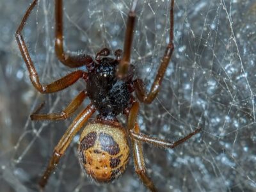
[[[80,137],[81,166],[97,182],[110,182],[125,171],[129,146],[124,128],[101,123],[86,125]]]

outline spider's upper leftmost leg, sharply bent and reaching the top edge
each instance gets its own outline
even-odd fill
[[[24,25],[26,24],[26,21],[31,11],[35,7],[36,3],[37,3],[37,0],[34,0],[33,3],[29,6],[22,21],[20,22],[20,26],[17,29],[15,36],[16,36],[17,43],[19,45],[20,52],[22,54],[22,58],[24,59],[26,66],[28,68],[31,83],[33,84],[33,86],[35,86],[36,90],[38,90],[41,93],[58,92],[60,90],[67,88],[71,84],[75,83],[77,79],[83,76],[86,77],[86,73],[81,70],[77,70],[76,72],[72,72],[67,76],[61,78],[60,80],[55,81],[54,83],[46,84],[46,85],[43,85],[40,83],[35,66],[29,55],[28,47],[26,46],[23,36],[21,35],[22,29],[24,28]]]

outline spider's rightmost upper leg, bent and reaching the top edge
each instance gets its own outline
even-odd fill
[[[151,103],[152,100],[156,98],[157,93],[159,92],[159,88],[163,81],[164,73],[168,64],[170,63],[170,59],[172,57],[172,52],[174,49],[173,46],[173,6],[174,0],[171,1],[171,9],[170,9],[170,42],[166,47],[164,52],[164,56],[161,61],[161,65],[157,71],[154,83],[151,86],[150,92],[147,93],[145,90],[145,85],[141,79],[136,79],[134,81],[134,88],[136,91],[136,95],[141,102]]]

